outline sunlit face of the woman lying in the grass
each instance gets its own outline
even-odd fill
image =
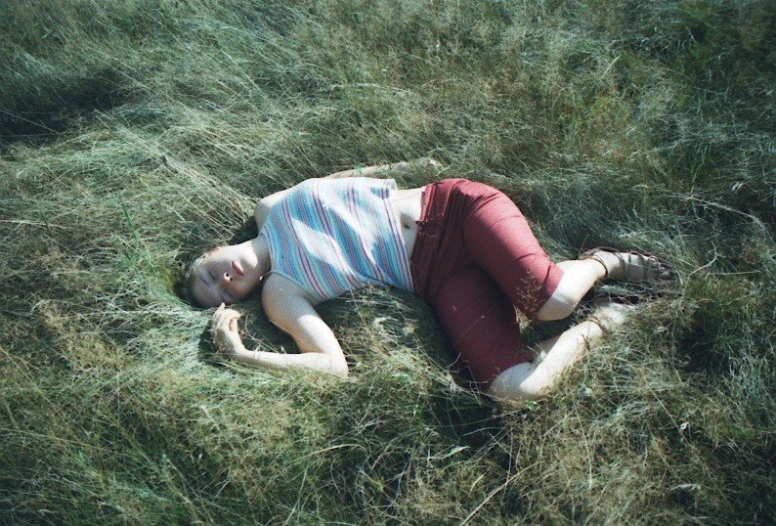
[[[192,265],[191,293],[203,307],[244,299],[261,281],[250,242],[214,248]]]

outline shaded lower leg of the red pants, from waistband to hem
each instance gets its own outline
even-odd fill
[[[487,389],[498,374],[531,361],[533,354],[521,340],[512,298],[475,263],[470,251],[477,248],[467,249],[464,242],[467,218],[483,192],[495,191],[464,179],[426,188],[412,272],[416,294],[437,315],[461,365]]]

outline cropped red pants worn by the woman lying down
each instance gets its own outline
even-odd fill
[[[481,389],[531,361],[515,307],[534,318],[563,272],[506,195],[465,179],[428,185],[411,267],[415,293]]]

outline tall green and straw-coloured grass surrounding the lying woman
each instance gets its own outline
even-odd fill
[[[0,523],[773,524],[775,87],[770,0],[4,0]],[[392,291],[322,308],[345,381],[220,360],[182,266],[421,156],[676,286],[509,409]]]

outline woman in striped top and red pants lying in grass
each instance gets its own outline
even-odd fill
[[[436,166],[431,160],[421,161]],[[497,400],[534,398],[622,324],[631,308],[600,304],[587,321],[528,349],[517,307],[529,319],[566,318],[600,279],[665,279],[659,260],[594,249],[553,263],[517,206],[501,192],[465,179],[396,189],[377,176],[406,163],[304,181],[256,206],[256,238],[197,259],[186,278],[193,300],[219,306],[216,346],[236,362],[347,376],[342,348],[315,310],[320,303],[378,284],[414,292],[438,317],[473,380]],[[250,351],[226,308],[259,284],[269,320],[301,354]]]

